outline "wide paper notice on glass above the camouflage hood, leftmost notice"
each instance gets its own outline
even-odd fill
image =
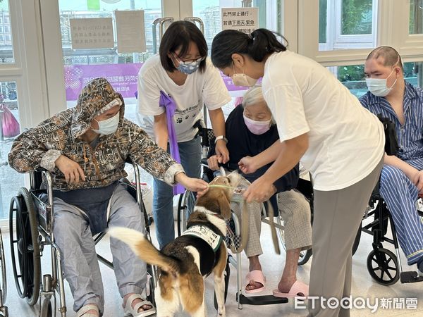
[[[110,49],[114,47],[111,18],[69,19],[72,49]]]

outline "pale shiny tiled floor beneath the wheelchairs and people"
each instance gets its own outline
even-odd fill
[[[8,272],[8,296],[6,300],[6,305],[8,306],[9,316],[12,317],[30,317],[38,316],[39,305],[30,307],[26,304],[25,300],[20,299],[16,293],[16,287],[13,281],[13,272],[11,268],[11,259],[10,259],[10,249],[8,241],[8,232],[4,232],[4,244],[6,247],[6,268]],[[285,261],[285,254],[276,256],[274,254],[274,248],[271,244],[271,239],[269,238],[269,227],[268,225],[263,225],[262,232],[262,245],[264,249],[264,254],[261,256],[262,265],[264,268],[264,275],[266,275],[266,290],[263,294],[271,294],[271,290],[276,287],[278,279],[280,278],[281,269]],[[388,249],[392,249],[387,246]],[[109,246],[108,242],[105,240],[99,244],[99,252],[101,254],[109,255]],[[379,301],[384,301],[388,303],[391,301],[391,309],[384,309],[381,305],[377,309],[376,313],[372,313],[370,309],[353,309],[351,311],[351,316],[423,316],[423,283],[415,284],[401,284],[397,282],[395,285],[385,287],[377,284],[372,280],[369,273],[367,272],[366,259],[369,251],[372,249],[372,237],[369,235],[362,235],[362,240],[360,242],[360,247],[357,250],[357,253],[353,257],[353,297],[363,297],[369,298],[370,303],[374,304],[376,298]],[[244,258],[245,259],[245,258]],[[49,272],[49,254],[45,253],[42,256],[42,268]],[[309,280],[309,270],[310,262],[298,268],[298,278],[305,282]],[[403,261],[405,262],[405,261]],[[114,279],[114,274],[111,269],[100,265],[102,269],[103,282],[106,293],[105,293],[105,317],[117,317],[123,316],[123,309],[121,309],[121,298],[119,297],[118,290],[116,287],[116,281]],[[410,268],[403,263],[403,269],[415,269],[415,266]],[[243,261],[243,276],[247,273],[247,261]],[[206,302],[207,302],[207,313],[208,316],[214,316],[216,311],[213,306],[213,278],[207,278],[207,292],[206,292]],[[68,303],[68,314],[67,316],[73,317],[75,313],[72,309],[72,297],[71,292],[66,285],[66,301]],[[226,314],[229,317],[237,316],[305,316],[307,311],[305,309],[294,309],[294,303],[291,300],[288,304],[278,304],[278,305],[269,305],[269,306],[246,306],[244,305],[243,310],[237,308],[235,302],[235,290],[236,290],[236,271],[235,268],[231,267],[231,280],[228,291],[228,299],[226,301]],[[385,299],[382,299],[385,298]],[[405,300],[406,298],[415,298],[418,301],[416,309],[406,309]],[[387,300],[386,300],[387,299]],[[393,302],[398,300],[399,303],[403,302],[403,309],[393,309]],[[59,316],[56,315],[56,316]],[[185,316],[185,314],[180,313],[178,316]]]

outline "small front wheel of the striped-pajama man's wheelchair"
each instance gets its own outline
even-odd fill
[[[384,248],[370,252],[367,270],[376,282],[386,286],[395,284],[400,278],[396,255]]]

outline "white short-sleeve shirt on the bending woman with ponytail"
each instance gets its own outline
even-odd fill
[[[292,51],[274,53],[264,66],[262,90],[281,141],[307,132],[301,161],[314,189],[353,185],[381,161],[383,125],[319,63]]]

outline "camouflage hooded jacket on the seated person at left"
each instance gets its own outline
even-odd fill
[[[104,109],[121,104],[116,132],[100,135],[92,149],[82,135],[90,129],[92,119]],[[159,180],[173,185],[176,173],[182,172],[180,164],[171,159],[135,123],[123,118],[124,102],[121,94],[114,92],[104,78],[96,78],[82,89],[74,108],[62,111],[44,120],[35,128],[19,135],[8,161],[19,173],[42,167],[50,170],[54,189],[71,190],[104,187],[125,177],[125,160],[131,159]],[[68,184],[54,162],[64,155],[80,165],[85,181]]]

